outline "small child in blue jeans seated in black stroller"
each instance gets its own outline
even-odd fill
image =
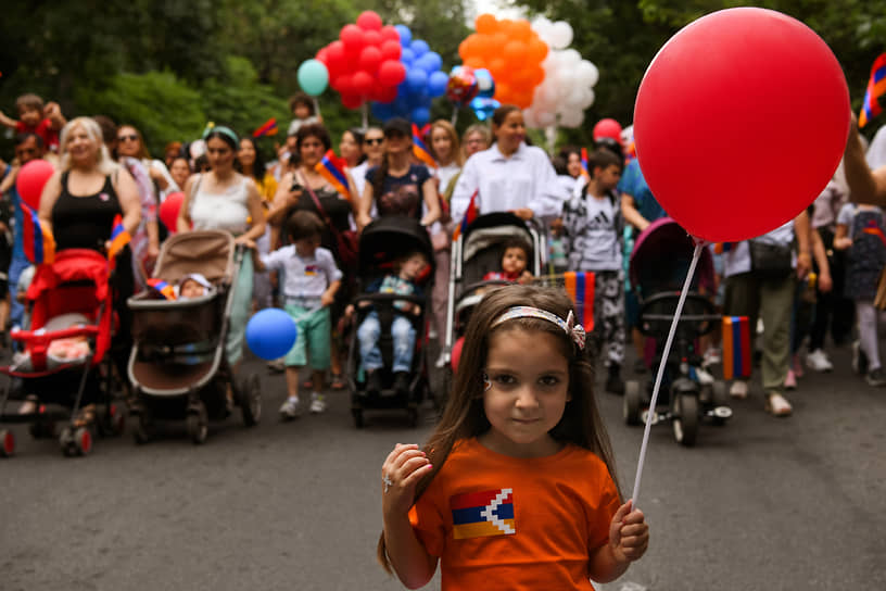
[[[428,259],[421,251],[414,251],[394,261],[394,273],[389,273],[376,279],[366,288],[367,293],[396,293],[400,296],[421,297],[421,288],[416,285],[417,279],[428,266]],[[368,307],[371,302],[363,301],[360,307]],[[416,329],[407,315],[421,314],[421,306],[406,300],[393,302],[394,312],[391,323],[391,337],[394,344],[394,390],[397,394],[407,394],[409,390],[409,369],[413,365]],[[354,313],[354,305],[345,310],[349,316]],[[369,395],[378,394],[382,383],[379,369],[383,362],[379,349],[381,336],[381,320],[376,310],[370,311],[357,328],[360,361],[366,370],[366,392]]]

